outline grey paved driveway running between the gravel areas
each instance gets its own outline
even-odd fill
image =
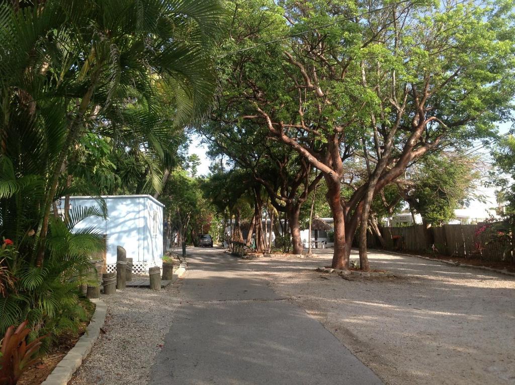
[[[188,249],[188,257],[184,300],[150,385],[382,384],[245,261],[216,248]]]

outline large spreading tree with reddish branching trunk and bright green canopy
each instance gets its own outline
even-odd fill
[[[509,118],[511,2],[262,1],[247,12],[247,3],[230,3],[219,105],[226,120],[254,121],[321,172],[335,268],[348,268],[360,220],[366,235],[374,196],[411,163],[487,137]],[[264,20],[264,34],[234,38],[233,30]],[[368,175],[343,197],[360,155]]]

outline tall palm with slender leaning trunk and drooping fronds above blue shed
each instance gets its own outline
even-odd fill
[[[49,0],[0,7],[2,156],[12,160],[16,174],[44,178],[33,224],[38,265],[77,141],[99,131],[121,143],[145,143],[165,159],[162,139],[171,124],[159,115],[157,90],[169,93],[178,122],[202,110],[214,87],[209,54],[219,20],[216,0]]]

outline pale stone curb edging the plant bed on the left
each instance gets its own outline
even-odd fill
[[[72,379],[73,374],[79,368],[82,360],[88,356],[100,334],[100,328],[104,326],[106,321],[107,306],[100,299],[92,299],[95,307],[95,313],[86,328],[86,332],[77,341],[75,346],[68,351],[61,362],[57,364],[55,369],[48,375],[41,385],[66,385]]]

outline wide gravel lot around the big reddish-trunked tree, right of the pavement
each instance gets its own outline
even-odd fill
[[[248,267],[387,384],[515,383],[515,279],[372,252],[372,269],[399,277],[349,281],[315,272],[330,264],[332,250],[321,253],[262,258]]]

